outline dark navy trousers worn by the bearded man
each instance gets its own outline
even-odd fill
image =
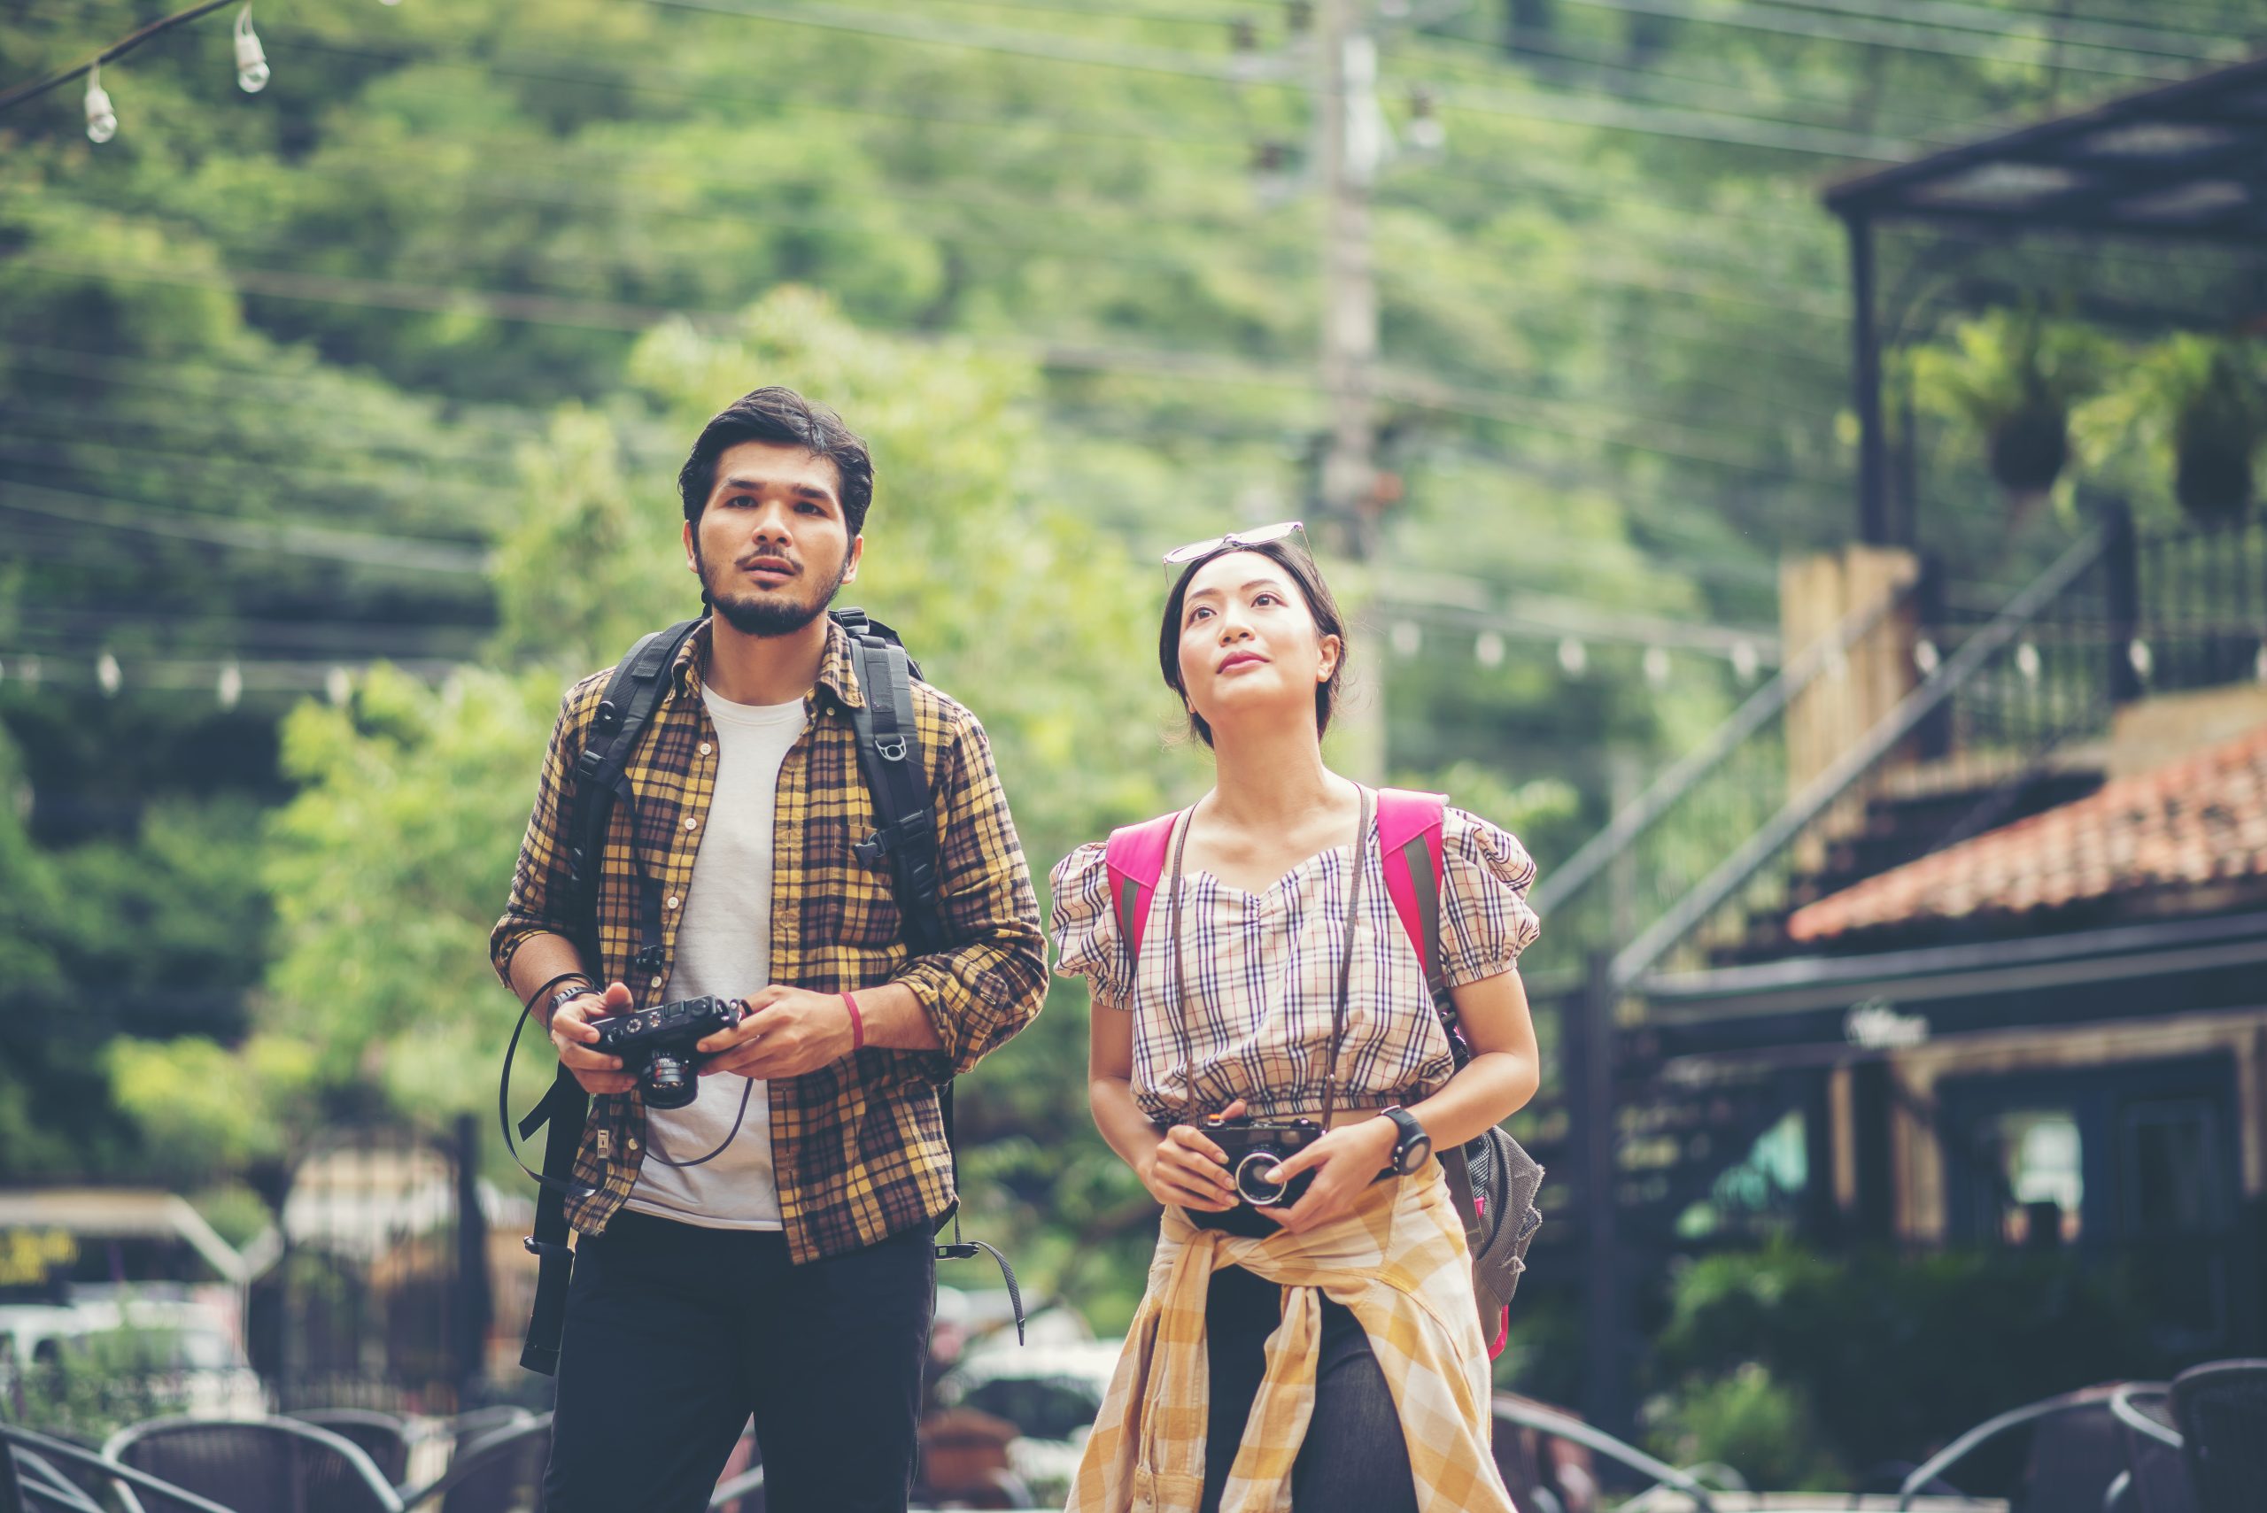
[[[614,1214],[576,1246],[546,1513],[694,1513],[755,1418],[769,1513],[902,1513],[927,1230],[789,1266],[780,1232]]]

